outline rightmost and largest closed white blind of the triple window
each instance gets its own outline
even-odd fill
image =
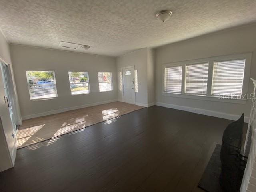
[[[245,59],[214,62],[212,95],[241,97]]]

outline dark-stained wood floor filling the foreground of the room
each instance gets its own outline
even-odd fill
[[[158,106],[18,150],[0,191],[201,192],[204,168],[231,120]]]

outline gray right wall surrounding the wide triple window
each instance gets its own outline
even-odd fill
[[[188,106],[205,110],[213,110],[228,114],[250,114],[251,101],[246,104],[227,102],[212,102],[188,98],[178,98],[162,95],[162,65],[170,62],[208,58],[228,54],[252,52],[250,77],[256,77],[256,25],[234,28],[231,30],[200,36],[190,40],[168,44],[156,49],[156,101]],[[253,84],[249,84],[252,93]]]

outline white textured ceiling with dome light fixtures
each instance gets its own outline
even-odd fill
[[[171,9],[160,23],[154,15]],[[256,22],[256,0],[0,0],[0,28],[14,44],[118,56]]]

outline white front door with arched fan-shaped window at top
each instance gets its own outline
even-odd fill
[[[134,67],[123,69],[124,102],[135,104]]]

